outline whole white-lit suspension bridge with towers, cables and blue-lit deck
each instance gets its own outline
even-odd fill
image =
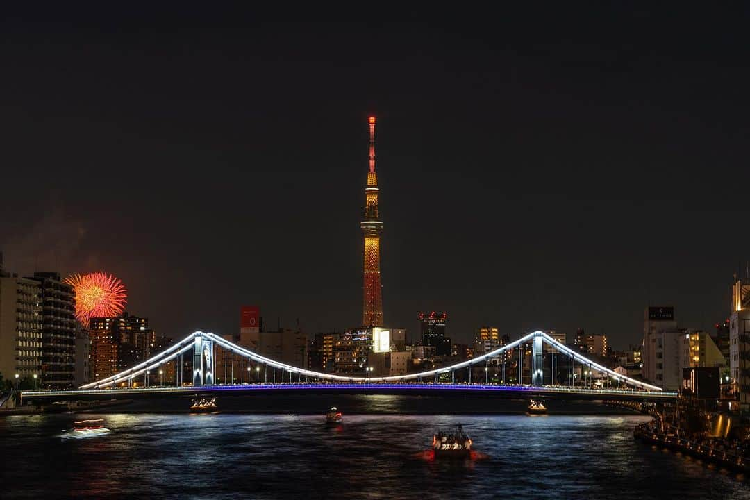
[[[506,384],[506,359],[511,349],[519,349],[517,376],[522,380],[523,375],[523,351],[524,346],[530,344],[531,367],[530,384],[522,385]],[[547,354],[552,353],[552,370],[547,370],[545,380],[544,346]],[[249,365],[255,364],[255,379],[251,382],[250,370],[248,370],[248,381],[240,384],[217,384],[217,373],[215,370],[215,347],[220,347],[227,354],[237,355],[248,361]],[[568,376],[563,382],[558,380],[556,370],[556,355],[568,357]],[[175,375],[175,385],[167,386],[166,382],[148,385],[149,374],[163,371],[163,367],[169,362],[177,362],[182,365],[184,356],[193,359],[191,376],[189,380],[184,378],[183,370]],[[488,367],[490,361],[502,359],[502,376],[500,383],[490,384]],[[582,368],[581,373],[592,375],[598,373],[599,380],[602,377],[607,380],[607,385],[594,387],[586,385],[581,387],[575,385],[575,363]],[[475,376],[472,380],[472,371],[475,367],[484,365],[484,377]],[[263,367],[263,369],[261,369]],[[270,369],[270,377],[269,377]],[[499,370],[499,367],[497,368]],[[584,371],[585,369],[585,371]],[[263,371],[263,380],[261,380]],[[482,371],[481,368],[479,370]],[[459,374],[463,382],[456,381]],[[467,377],[466,377],[467,376]],[[225,377],[226,380],[226,377]],[[138,386],[138,382],[142,384]],[[573,382],[571,382],[573,381]],[[467,361],[453,364],[449,367],[440,367],[434,370],[426,370],[419,373],[409,373],[398,376],[344,376],[335,373],[322,373],[306,368],[295,367],[280,361],[275,361],[266,356],[253,352],[245,347],[238,346],[229,340],[209,332],[196,331],[168,349],[157,353],[142,363],[123,370],[113,376],[82,385],[77,390],[69,391],[23,391],[24,400],[74,400],[90,399],[93,397],[133,397],[134,395],[167,395],[167,394],[242,394],[243,392],[258,394],[263,393],[326,393],[340,394],[485,394],[500,395],[504,397],[559,397],[568,399],[609,399],[609,400],[674,400],[676,393],[662,391],[655,385],[650,385],[638,379],[633,379],[610,370],[595,361],[583,356],[580,352],[570,349],[557,340],[553,339],[543,331],[534,331],[500,347],[492,352],[477,356]]]

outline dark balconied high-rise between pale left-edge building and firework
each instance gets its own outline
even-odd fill
[[[58,273],[34,273],[42,304],[42,388],[68,389],[75,382],[76,316],[73,286]]]

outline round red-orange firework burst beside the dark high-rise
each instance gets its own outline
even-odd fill
[[[125,309],[127,290],[112,274],[73,274],[65,283],[76,292],[76,317],[86,327],[91,318],[114,318]]]

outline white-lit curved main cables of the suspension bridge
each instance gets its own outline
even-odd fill
[[[273,367],[278,370],[284,370],[290,373],[297,373],[299,375],[313,377],[315,379],[329,380],[329,381],[334,381],[334,382],[368,382],[368,383],[405,382],[408,380],[418,380],[418,379],[423,379],[427,377],[434,377],[434,376],[440,375],[440,373],[451,373],[454,370],[461,370],[466,367],[472,367],[475,364],[481,364],[483,361],[487,361],[490,358],[496,358],[497,356],[502,355],[504,352],[508,351],[509,349],[514,349],[515,347],[520,346],[523,343],[530,342],[534,340],[535,337],[541,337],[541,340],[543,343],[546,343],[547,345],[557,349],[557,351],[562,352],[562,354],[567,355],[573,361],[578,361],[578,363],[582,365],[586,365],[592,368],[593,370],[597,370],[598,372],[607,373],[607,375],[612,376],[613,379],[619,380],[620,382],[624,382],[625,384],[628,384],[628,385],[634,385],[635,387],[641,388],[645,391],[661,391],[661,388],[658,388],[655,385],[646,384],[646,382],[641,382],[640,380],[636,380],[636,379],[632,379],[631,377],[624,376],[621,373],[617,373],[614,370],[610,370],[609,368],[596,363],[595,361],[589,360],[585,356],[580,355],[580,353],[575,352],[573,349],[568,348],[568,346],[565,346],[564,344],[559,343],[557,340],[545,334],[543,331],[534,331],[530,334],[526,334],[520,339],[514,340],[514,342],[508,343],[505,346],[500,347],[499,349],[495,349],[494,351],[487,352],[484,355],[477,356],[476,358],[472,358],[467,361],[462,361],[460,363],[453,364],[449,367],[441,367],[435,370],[427,370],[427,371],[420,372],[420,373],[410,373],[407,375],[387,376],[387,377],[341,376],[341,375],[334,375],[332,373],[321,373],[321,372],[316,372],[314,370],[308,370],[306,368],[295,367],[290,364],[281,363],[280,361],[272,360],[271,358],[266,358],[266,356],[259,355],[257,354],[257,352],[253,352],[249,349],[245,349],[242,346],[238,346],[235,343],[229,342],[229,340],[226,340],[223,337],[219,337],[216,334],[212,334],[210,332],[196,331],[196,332],[193,332],[193,334],[190,334],[187,337],[185,337],[183,340],[180,340],[178,343],[175,343],[173,346],[170,346],[168,349],[157,353],[157,355],[154,355],[148,360],[143,361],[142,363],[136,364],[135,366],[130,367],[127,370],[123,370],[122,372],[117,373],[113,376],[109,376],[105,379],[101,379],[96,382],[90,382],[89,384],[81,385],[80,389],[106,388],[109,386],[116,385],[118,382],[121,382],[121,381],[134,379],[136,376],[141,376],[145,374],[146,372],[150,372],[151,370],[156,370],[158,367],[160,367],[167,361],[172,361],[173,359],[177,358],[178,355],[181,355],[184,352],[187,352],[193,349],[193,345],[194,345],[194,341],[196,337],[203,337],[206,340],[211,340],[217,346],[221,346],[223,349],[226,349],[229,352],[233,352],[236,355],[240,355],[244,358],[251,359],[252,361],[255,361],[256,363],[264,364],[266,366]]]

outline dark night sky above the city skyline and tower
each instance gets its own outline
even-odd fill
[[[750,259],[748,7],[571,5],[5,6],[5,267],[113,273],[173,337],[357,325],[372,113],[387,325],[710,328]]]

